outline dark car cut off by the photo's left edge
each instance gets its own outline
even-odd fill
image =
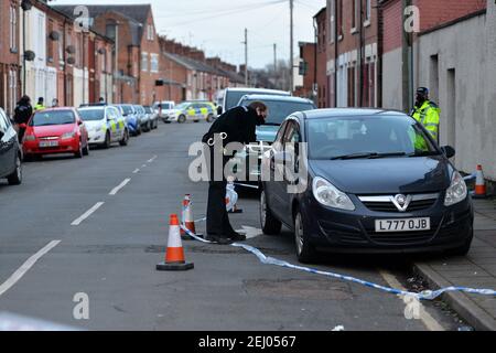
[[[22,149],[12,122],[0,108],[0,179],[10,185],[22,183]]]

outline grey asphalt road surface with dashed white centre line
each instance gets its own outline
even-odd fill
[[[422,319],[408,320],[406,303],[392,295],[262,265],[229,246],[187,242],[186,259],[194,270],[155,271],[164,256],[169,215],[180,212],[184,194],[192,194],[196,218],[205,214],[206,185],[188,180],[187,150],[207,128],[160,125],[128,147],[91,150],[83,160],[26,163],[21,186],[1,181],[0,312],[89,330],[459,328],[442,303],[429,303]],[[244,194],[239,206],[245,213],[231,216],[235,228],[259,228],[256,194]],[[204,224],[197,227],[204,231]],[[289,232],[247,243],[298,264]],[[48,244],[53,247],[46,254],[21,268]],[[405,258],[332,257],[314,267],[384,286],[406,285],[410,276]],[[13,276],[19,271],[23,276]],[[74,318],[76,293],[88,296],[89,320]]]

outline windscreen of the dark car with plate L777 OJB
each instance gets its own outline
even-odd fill
[[[308,142],[314,160],[439,154],[419,124],[399,116],[310,119]]]

